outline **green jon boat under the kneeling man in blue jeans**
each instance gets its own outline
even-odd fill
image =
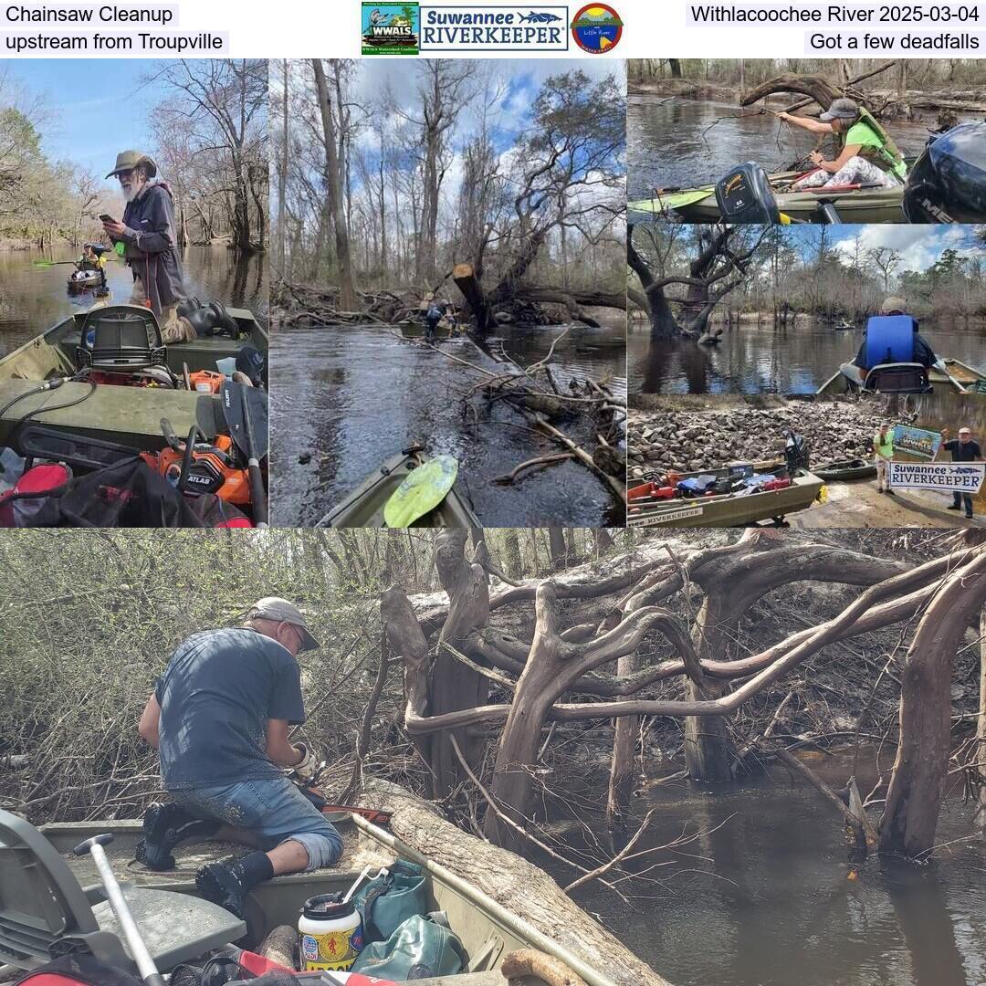
[[[370,867],[387,867],[400,857],[417,863],[425,871],[428,909],[441,910],[462,943],[468,968],[462,974],[421,980],[422,986],[505,986],[500,970],[504,957],[520,949],[546,952],[579,975],[588,986],[615,986],[612,978],[586,959],[534,928],[520,915],[463,880],[450,870],[406,845],[396,836],[358,815],[328,816],[343,841],[340,862],[314,873],[275,877],[255,886],[246,900],[247,940],[259,943],[270,931],[282,925],[294,928],[302,905],[312,896],[345,891],[361,872]],[[44,825],[42,835],[62,854],[62,858],[83,887],[91,903],[104,896],[95,864],[90,856],[77,857],[74,846],[98,834],[111,833],[106,856],[117,880],[137,890],[172,890],[195,895],[195,873],[206,863],[243,852],[233,843],[204,842],[185,844],[176,850],[176,869],[153,873],[134,867],[137,841],[143,831],[139,820],[102,820]],[[176,915],[180,928],[180,915]],[[153,931],[150,932],[152,935]],[[540,978],[525,978],[524,986],[543,986]]]

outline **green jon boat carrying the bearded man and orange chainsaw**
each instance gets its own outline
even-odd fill
[[[77,350],[88,313],[58,322],[0,359],[0,408],[8,408],[0,412],[0,446],[10,444],[19,423],[29,414],[37,424],[139,452],[157,452],[165,447],[162,418],[168,418],[180,436],[187,435],[193,424],[206,440],[224,434],[226,424],[219,394],[196,392],[183,382],[186,373],[215,371],[217,360],[236,356],[245,345],[255,347],[266,357],[267,332],[252,314],[246,309],[226,311],[237,322],[239,339],[212,336],[166,347],[165,362],[178,381],[177,387],[119,387],[103,383],[93,387],[69,382],[10,404],[44,381],[78,374]],[[73,406],[58,409],[75,399],[79,402]]]

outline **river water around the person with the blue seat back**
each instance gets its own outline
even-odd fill
[[[936,353],[982,367],[986,323],[959,327],[922,319],[921,334]],[[835,331],[817,319],[773,328],[769,319],[743,320],[715,346],[690,340],[652,342],[650,328],[631,325],[627,337],[631,393],[813,393],[859,349],[862,329]]]

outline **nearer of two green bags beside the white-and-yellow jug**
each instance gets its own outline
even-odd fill
[[[402,983],[455,976],[464,968],[465,955],[456,934],[431,916],[415,914],[386,942],[366,946],[350,971]]]

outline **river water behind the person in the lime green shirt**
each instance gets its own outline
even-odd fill
[[[779,126],[774,116],[739,117],[740,106],[735,104],[688,98],[663,102],[666,99],[638,95],[627,101],[631,201],[651,197],[655,188],[714,181],[744,161],[755,161],[768,173],[777,171],[814,147],[815,138],[807,130]],[[905,155],[918,154],[928,138],[928,128],[921,123],[894,121],[887,129]]]

